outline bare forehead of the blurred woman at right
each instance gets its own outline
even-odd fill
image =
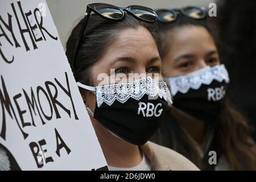
[[[213,49],[214,40],[202,26],[177,27],[171,34],[171,52],[205,53]]]

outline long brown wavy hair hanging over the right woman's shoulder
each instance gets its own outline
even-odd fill
[[[256,146],[250,126],[229,100],[226,100],[218,121],[216,137],[231,169],[256,169]]]

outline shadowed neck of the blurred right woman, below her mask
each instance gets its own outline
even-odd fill
[[[204,137],[206,134],[206,125],[204,122],[198,119],[192,118],[190,115],[184,113],[183,111],[170,107],[170,112],[177,121],[180,123],[181,127],[199,144],[204,142]],[[191,127],[193,126],[193,127]]]

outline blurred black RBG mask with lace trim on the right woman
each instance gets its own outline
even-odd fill
[[[171,86],[174,106],[207,123],[220,116],[229,82],[224,65],[207,67],[183,76],[166,78]]]

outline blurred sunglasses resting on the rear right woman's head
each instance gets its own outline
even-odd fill
[[[174,22],[178,14],[183,14],[193,19],[204,19],[207,11],[204,7],[188,6],[181,9],[160,9],[156,10],[156,14],[158,14],[158,22],[168,23]]]

